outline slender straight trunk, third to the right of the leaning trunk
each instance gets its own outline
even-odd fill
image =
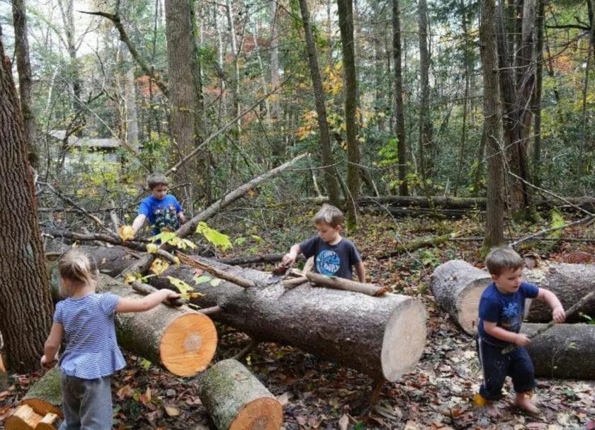
[[[428,47],[428,4],[419,0],[419,171],[426,188],[426,179],[431,179],[433,171],[434,148],[430,118],[430,52]]]

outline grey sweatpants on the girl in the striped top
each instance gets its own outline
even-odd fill
[[[111,378],[60,376],[64,421],[59,430],[111,430]]]

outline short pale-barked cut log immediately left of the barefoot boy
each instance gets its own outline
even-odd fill
[[[477,332],[478,306],[492,283],[489,273],[463,260],[450,260],[434,269],[430,288],[436,303],[467,334]]]

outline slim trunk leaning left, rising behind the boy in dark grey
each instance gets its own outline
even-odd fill
[[[310,76],[312,77],[314,103],[316,103],[316,113],[318,117],[320,156],[322,158],[322,164],[324,165],[324,181],[327,184],[327,193],[329,194],[331,204],[337,206],[339,205],[339,186],[334,175],[335,168],[331,153],[331,135],[329,132],[329,123],[327,122],[327,106],[324,103],[324,89],[322,89],[322,78],[320,77],[320,70],[318,68],[318,55],[316,45],[314,44],[310,13],[308,13],[306,0],[300,0],[300,11],[302,13],[302,22],[304,23],[308,66],[310,67]]]

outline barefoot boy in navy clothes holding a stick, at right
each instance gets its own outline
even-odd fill
[[[477,324],[477,353],[483,372],[480,403],[485,404],[492,414],[498,414],[493,402],[502,397],[502,385],[509,375],[516,392],[516,405],[537,414],[539,409],[531,402],[535,372],[525,348],[531,340],[519,333],[525,299],[547,303],[552,308],[555,322],[565,320],[564,307],[550,290],[522,281],[524,261],[514,249],[492,250],[485,265],[494,282],[482,294]],[[511,344],[518,348],[503,354],[502,349]]]

